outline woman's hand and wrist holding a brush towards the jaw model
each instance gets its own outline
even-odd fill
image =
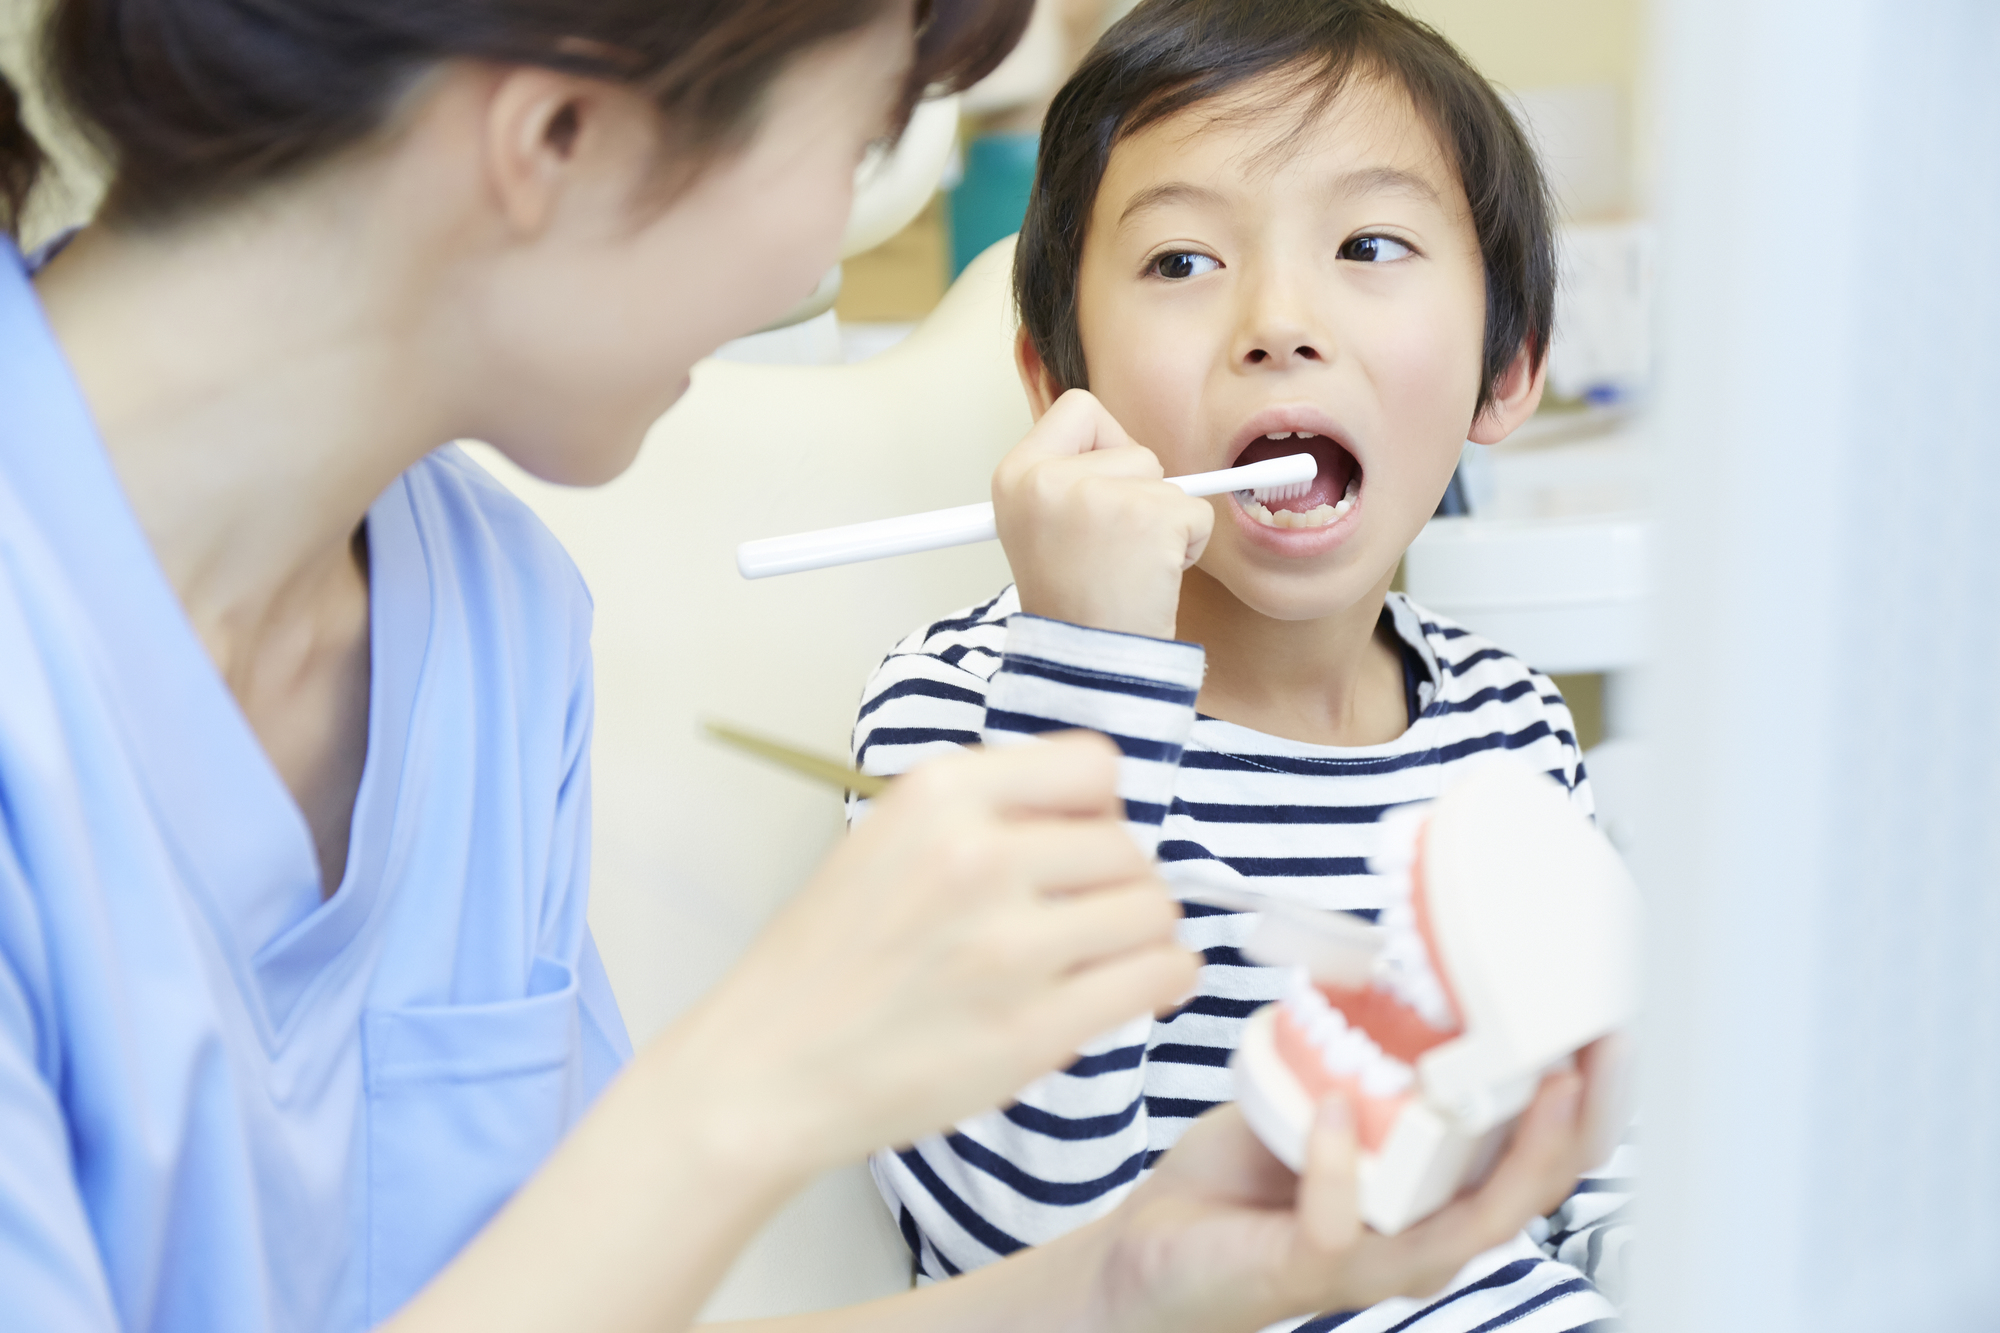
[[[1000,1105],[1172,1005],[1198,961],[1124,829],[1118,751],[1068,735],[896,779],[664,1039],[726,1155],[810,1173]],[[652,1059],[652,1053],[640,1061]]]

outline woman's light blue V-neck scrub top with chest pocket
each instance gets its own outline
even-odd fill
[[[368,552],[322,901],[0,240],[0,1327],[364,1329],[630,1053],[584,923],[582,578],[454,448]]]

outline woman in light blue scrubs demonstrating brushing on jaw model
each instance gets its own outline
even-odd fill
[[[1026,8],[52,8],[114,184],[54,254],[0,242],[0,1327],[684,1327],[818,1171],[1188,987],[1116,757],[1070,739],[900,783],[634,1055],[584,923],[590,600],[438,448],[616,476]],[[8,232],[36,166],[0,84]],[[1224,1113],[1090,1229],[778,1327],[1430,1289],[1562,1195],[1580,1101],[1552,1079],[1392,1241],[1338,1107],[1302,1187]]]

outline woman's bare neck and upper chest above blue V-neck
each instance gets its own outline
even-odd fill
[[[318,853],[368,755],[378,494],[464,418],[418,216],[316,180],[220,218],[82,232],[38,278],[154,556]],[[342,188],[346,186],[346,188]],[[396,230],[402,212],[402,234]],[[428,238],[434,242],[436,238]]]

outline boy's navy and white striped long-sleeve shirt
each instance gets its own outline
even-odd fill
[[[1390,594],[1386,616],[1406,644],[1416,717],[1386,745],[1334,749],[1198,715],[1196,644],[1020,614],[1008,588],[896,644],[864,691],[854,761],[894,775],[948,747],[1100,731],[1124,755],[1130,827],[1168,879],[1178,865],[1220,861],[1264,893],[1374,913],[1368,857],[1382,813],[1438,795],[1454,765],[1510,751],[1590,811],[1570,713],[1546,677],[1400,594]],[[850,817],[864,809],[856,801]],[[1008,1107],[874,1157],[920,1275],[950,1277],[1104,1215],[1194,1117],[1230,1099],[1238,1033],[1278,999],[1284,973],[1242,957],[1250,917],[1198,903],[1182,911],[1182,943],[1204,959],[1194,999],[1106,1033]],[[1622,1189],[1610,1175],[1584,1181],[1538,1235],[1482,1255],[1434,1301],[1388,1301],[1300,1327],[1612,1327],[1612,1305],[1580,1267],[1596,1261],[1606,1265],[1600,1279],[1614,1277],[1626,1249],[1612,1235]]]

